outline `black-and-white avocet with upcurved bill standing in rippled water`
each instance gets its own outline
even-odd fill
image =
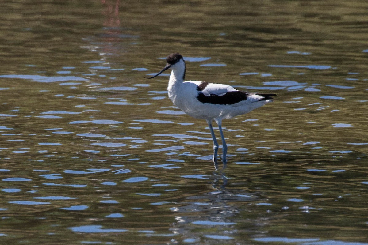
[[[271,102],[272,96],[276,96],[276,94],[248,93],[225,84],[184,81],[185,62],[183,56],[179,53],[170,54],[167,56],[166,62],[166,66],[151,78],[155,78],[169,68],[171,69],[169,86],[167,87],[170,100],[186,114],[207,121],[213,140],[213,162],[217,163],[219,144],[212,128],[212,120],[215,120],[222,139],[222,161],[226,164],[227,145],[222,132],[222,119],[246,114]]]

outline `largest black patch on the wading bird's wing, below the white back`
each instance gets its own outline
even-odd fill
[[[229,91],[224,95],[210,94],[210,96],[206,96],[204,93],[199,93],[197,99],[202,103],[233,105],[240,101],[247,100],[248,95],[250,94],[244,91]]]

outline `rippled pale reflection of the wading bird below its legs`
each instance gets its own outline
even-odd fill
[[[234,227],[239,217],[237,214],[243,211],[240,207],[246,209],[246,205],[234,202],[250,202],[261,198],[241,189],[227,189],[231,179],[226,177],[226,165],[221,170],[217,167],[212,175],[206,176],[212,180],[209,184],[214,190],[188,196],[177,202],[177,207],[171,208],[176,213],[176,222],[170,230],[178,235],[178,239],[172,240],[173,243],[182,242],[180,239],[184,242],[199,242],[201,237],[211,236],[233,239],[232,235],[237,233]]]

